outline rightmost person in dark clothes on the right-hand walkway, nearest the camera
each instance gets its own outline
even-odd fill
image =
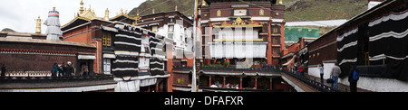
[[[350,72],[348,73],[350,92],[357,92],[357,81],[360,78],[359,73],[360,71],[355,67],[355,65],[351,65]]]

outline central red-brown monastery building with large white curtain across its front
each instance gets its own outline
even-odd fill
[[[277,0],[203,0],[199,39],[204,65],[211,60],[236,65],[246,59],[280,64],[284,13],[285,5]]]

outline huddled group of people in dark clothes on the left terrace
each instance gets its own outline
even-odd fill
[[[74,76],[75,68],[73,67],[73,63],[68,61],[66,64],[63,62],[62,65],[58,65],[57,63],[53,63],[53,68],[51,70],[51,77],[71,77]]]

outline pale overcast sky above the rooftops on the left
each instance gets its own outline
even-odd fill
[[[146,0],[83,0],[83,7],[91,8],[99,17],[105,15],[106,8],[109,9],[109,16],[114,17],[116,13],[128,10],[141,5]],[[56,7],[60,12],[61,25],[73,20],[74,13],[78,13],[81,0],[1,0],[0,4],[0,31],[10,28],[16,32],[35,32],[35,19],[40,15],[44,21],[48,17],[48,11]],[[46,26],[42,23],[42,33]]]

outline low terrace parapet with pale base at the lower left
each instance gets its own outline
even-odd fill
[[[74,77],[0,77],[0,92],[113,92],[112,75]]]

